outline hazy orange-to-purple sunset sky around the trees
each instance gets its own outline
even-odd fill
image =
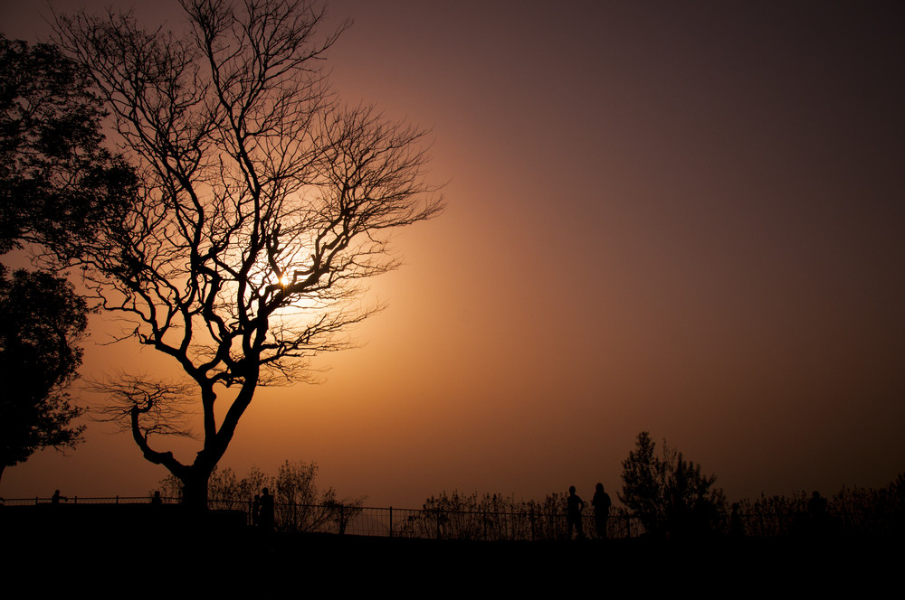
[[[2,1],[8,37],[42,9]],[[57,2],[62,10],[106,2]],[[119,3],[128,5],[128,3]],[[729,498],[905,471],[905,9],[891,2],[335,0],[343,97],[432,129],[448,210],[400,232],[389,308],[262,389],[222,465],[316,461],[368,505],[621,487],[639,431]],[[178,27],[176,2],[138,15]],[[101,347],[83,374],[166,370]],[[87,398],[87,397],[86,397]],[[178,445],[183,459],[190,445]],[[143,494],[90,424],[0,495]]]

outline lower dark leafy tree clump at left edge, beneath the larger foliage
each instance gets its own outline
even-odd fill
[[[81,365],[85,301],[60,277],[0,266],[0,476],[46,446],[74,446],[81,409],[64,391]]]

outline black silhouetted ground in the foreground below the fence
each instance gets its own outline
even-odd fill
[[[900,540],[476,542],[277,534],[179,507],[0,507],[5,584],[32,591],[173,595],[594,595],[900,587]],[[163,508],[164,510],[160,510]],[[182,594],[178,594],[180,597]]]

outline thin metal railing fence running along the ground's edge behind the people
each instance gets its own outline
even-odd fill
[[[148,496],[64,497],[54,502],[50,497],[0,499],[3,506],[35,504],[148,504]],[[177,498],[160,498],[162,504],[178,504]],[[212,499],[208,507],[215,511],[240,511],[248,525],[256,525],[252,502]],[[769,538],[795,533],[796,528],[808,524],[805,513],[757,512],[739,514],[734,519],[719,515],[710,524],[710,531],[724,536]],[[832,523],[837,532],[888,533],[901,530],[900,514],[865,512],[830,513],[825,523]],[[436,508],[397,509],[393,507],[362,507],[339,502],[330,504],[276,504],[274,529],[284,532],[348,533],[360,536],[382,536],[418,539],[475,539],[475,540],[557,540],[574,536],[569,531],[565,512],[545,511],[451,511]],[[583,515],[586,538],[595,539],[595,520]],[[642,521],[618,510],[607,520],[609,539],[636,538],[645,533]]]

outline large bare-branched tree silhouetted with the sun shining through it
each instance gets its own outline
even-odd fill
[[[375,311],[352,303],[357,283],[398,265],[388,234],[443,202],[424,183],[422,131],[329,89],[345,25],[320,36],[321,6],[181,4],[181,37],[129,14],[60,16],[57,36],[140,173],[138,201],[84,259],[88,285],[185,373],[203,447],[183,463],[138,404],[123,419],[200,507],[255,389],[308,379],[312,356],[348,346],[347,326]]]

